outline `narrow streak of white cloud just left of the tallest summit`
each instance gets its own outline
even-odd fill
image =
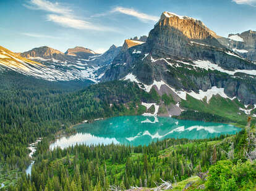
[[[142,12],[138,12],[137,10],[129,9],[129,8],[126,8],[126,7],[116,7],[111,12],[119,12],[121,14],[126,14],[126,15],[130,15],[130,16],[133,16],[133,17],[137,17],[141,20],[152,20],[152,21],[155,21],[155,22],[157,22],[159,20],[159,17],[144,14]]]

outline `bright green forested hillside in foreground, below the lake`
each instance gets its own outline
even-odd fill
[[[208,140],[167,139],[147,147],[75,145],[63,150],[48,150],[45,140],[38,145],[32,176],[23,174],[9,190],[126,190],[136,185],[142,190],[161,180],[182,190],[186,179],[193,180],[187,181],[187,190],[254,190],[249,138],[241,131]]]

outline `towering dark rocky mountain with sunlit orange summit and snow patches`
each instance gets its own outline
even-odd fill
[[[101,81],[130,79],[145,89],[164,83],[179,97],[185,94],[182,99],[216,87],[223,96],[255,104],[256,65],[217,38],[199,20],[164,12],[147,42],[122,49]]]

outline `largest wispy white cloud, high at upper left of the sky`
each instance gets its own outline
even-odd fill
[[[67,5],[59,4],[59,2],[53,3],[47,0],[30,0],[27,4],[24,4],[24,6],[28,9],[45,10],[46,12],[53,13],[47,14],[46,20],[64,27],[79,30],[115,31],[112,28],[96,25],[95,23],[77,17],[77,15],[74,14],[74,10]]]

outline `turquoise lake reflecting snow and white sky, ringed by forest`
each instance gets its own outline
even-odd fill
[[[156,116],[118,116],[75,126],[77,133],[56,140],[50,148],[75,144],[148,145],[167,138],[205,139],[241,131],[231,124],[176,120]]]

